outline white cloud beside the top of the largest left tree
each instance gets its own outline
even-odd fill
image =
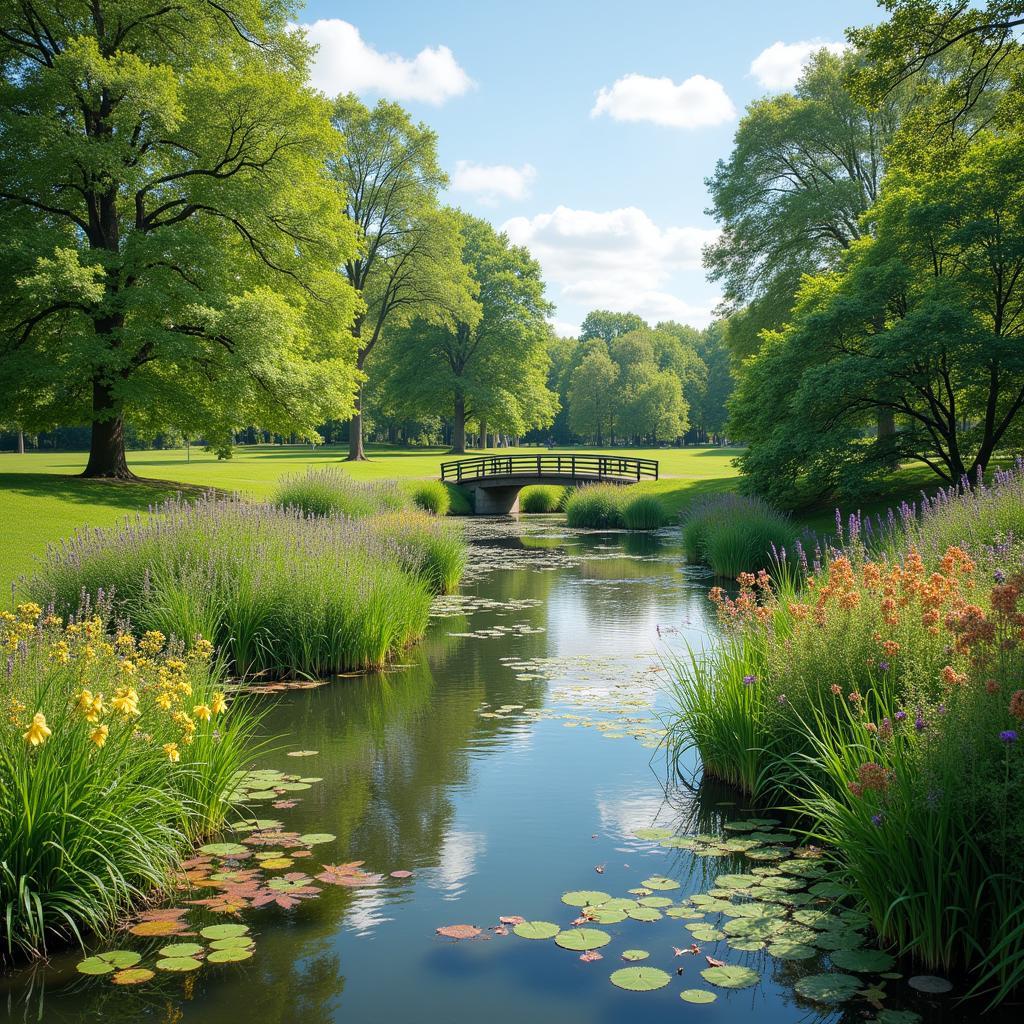
[[[375,50],[354,25],[338,17],[321,18],[302,28],[319,47],[312,84],[328,95],[374,92],[389,99],[436,104],[461,96],[473,85],[446,46],[427,46],[409,58]]]

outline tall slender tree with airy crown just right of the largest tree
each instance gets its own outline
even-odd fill
[[[437,163],[436,134],[397,103],[381,100],[368,110],[353,95],[337,99],[335,124],[346,140],[336,173],[361,238],[344,272],[366,303],[353,327],[356,366],[366,373],[385,326],[413,317],[444,323],[469,308],[473,288],[458,218],[437,203],[447,178]],[[361,393],[348,430],[349,460],[365,459]]]

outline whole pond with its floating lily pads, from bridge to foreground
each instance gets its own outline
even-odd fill
[[[716,636],[678,531],[469,532],[407,664],[260,697],[255,817],[90,973],[0,980],[0,1020],[977,1019],[871,949],[777,817],[672,777],[660,656]]]

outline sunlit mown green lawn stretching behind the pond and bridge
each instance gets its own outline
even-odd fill
[[[516,451],[536,455],[545,450],[501,450],[503,455]],[[673,514],[696,495],[735,486],[736,469],[732,464],[735,449],[605,451],[609,455],[657,459],[660,479],[642,486],[655,492]],[[360,480],[426,479],[436,477],[440,463],[452,458],[444,449],[411,452],[381,445],[370,445],[369,455],[369,462],[346,464],[341,447],[308,445],[240,447],[234,458],[226,461],[218,461],[197,449],[190,455],[184,450],[130,452],[128,463],[143,480],[112,483],[83,480],[75,475],[85,466],[84,452],[20,456],[0,453],[0,522],[3,523],[0,583],[30,570],[48,544],[68,537],[77,527],[112,525],[183,487],[216,487],[265,498],[283,475],[302,472],[309,466],[342,466]]]

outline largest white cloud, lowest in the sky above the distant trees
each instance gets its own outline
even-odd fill
[[[713,318],[715,302],[687,302],[672,285],[677,273],[699,270],[700,250],[718,237],[714,228],[659,227],[635,206],[604,212],[559,206],[513,217],[502,228],[541,261],[557,301],[632,311],[651,323],[703,327]]]

